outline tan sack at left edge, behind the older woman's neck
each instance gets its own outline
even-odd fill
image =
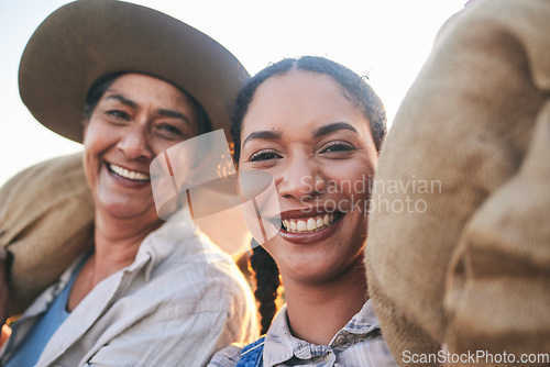
[[[91,247],[94,199],[81,154],[29,167],[0,187],[0,246],[16,258],[12,311],[20,312]]]

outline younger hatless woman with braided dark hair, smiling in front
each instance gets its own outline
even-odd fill
[[[278,234],[251,259],[264,332],[275,310],[277,268],[287,304],[265,337],[222,351],[211,366],[395,365],[369,301],[363,262],[385,120],[364,80],[322,57],[282,60],[241,90],[232,119],[239,169],[270,173],[280,205]]]

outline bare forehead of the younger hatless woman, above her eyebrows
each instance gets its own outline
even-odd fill
[[[338,81],[324,74],[293,70],[266,79],[256,89],[243,119],[241,137],[258,130],[310,136],[315,129],[334,122],[346,122],[365,134],[370,132],[363,112]]]

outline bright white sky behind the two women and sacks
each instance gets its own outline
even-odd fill
[[[36,26],[67,0],[0,0],[0,185],[19,170],[81,149],[21,102],[18,68]],[[466,0],[135,0],[199,29],[255,74],[284,57],[319,55],[370,82],[389,123],[441,24]]]

